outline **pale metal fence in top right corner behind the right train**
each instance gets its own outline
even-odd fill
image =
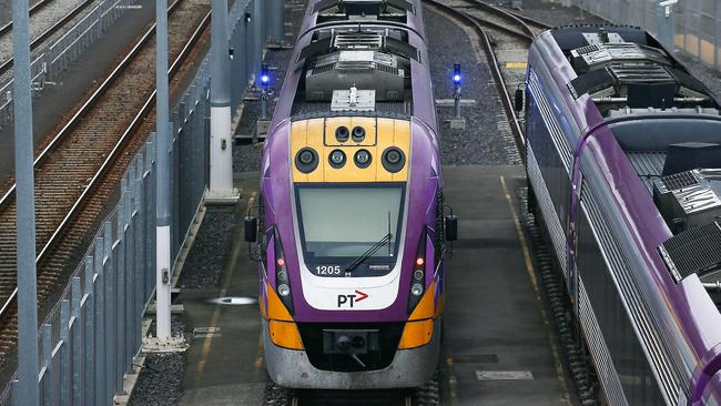
[[[666,16],[660,0],[572,0],[609,21],[642,27],[659,34],[663,19],[672,19],[677,49],[717,70],[721,69],[721,1],[680,0]]]

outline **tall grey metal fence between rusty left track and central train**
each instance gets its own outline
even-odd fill
[[[248,32],[264,32],[253,26],[263,21],[253,19],[258,10],[253,9],[254,2],[262,1],[236,0],[229,12],[229,44],[236,47],[231,75],[240,83],[233,90],[233,110],[260,65],[254,58],[261,52],[255,52]],[[262,35],[255,38],[265,38]],[[209,179],[210,57],[171,111],[171,255],[175,260],[203,204]],[[114,395],[123,393],[123,375],[142,349],[141,323],[154,288],[153,133],[121,180],[118,205],[38,332],[41,404],[110,405]],[[19,405],[12,396],[16,385],[17,373],[0,394],[0,406]]]

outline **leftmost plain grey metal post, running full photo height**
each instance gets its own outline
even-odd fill
[[[18,226],[18,400],[40,403],[38,386],[38,292],[35,270],[35,200],[32,169],[32,95],[29,1],[12,1],[14,58],[16,202]]]

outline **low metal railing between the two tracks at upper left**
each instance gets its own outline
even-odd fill
[[[135,0],[103,0],[58,41],[32,57],[30,73],[33,95],[54,81],[98,40]],[[0,84],[0,128],[12,121],[12,77]]]

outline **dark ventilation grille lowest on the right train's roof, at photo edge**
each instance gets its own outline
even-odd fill
[[[721,225],[684,231],[661,244],[659,251],[677,283],[691,274],[703,276],[721,266]]]

